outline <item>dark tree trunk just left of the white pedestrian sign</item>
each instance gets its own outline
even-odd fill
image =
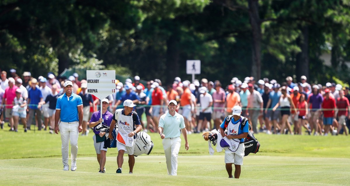
[[[179,38],[172,35],[167,40],[167,76],[165,82],[172,83],[174,78],[179,76]],[[185,62],[184,62],[185,63]]]

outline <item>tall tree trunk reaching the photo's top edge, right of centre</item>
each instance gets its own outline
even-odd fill
[[[261,76],[261,20],[258,0],[248,0],[249,18],[252,26],[252,76],[259,80]]]

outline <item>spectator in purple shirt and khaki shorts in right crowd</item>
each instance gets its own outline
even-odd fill
[[[310,118],[310,128],[311,131],[315,129],[314,135],[318,135],[318,126],[320,125],[318,123],[318,118],[321,113],[321,104],[323,102],[323,97],[320,93],[320,90],[318,90],[318,86],[314,85],[312,86],[312,94],[309,95],[309,102],[310,105],[310,111],[311,111],[311,118]]]

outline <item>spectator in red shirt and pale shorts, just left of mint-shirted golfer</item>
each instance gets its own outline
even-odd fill
[[[153,88],[152,92],[152,117],[155,124],[155,129],[158,129],[159,116],[163,113],[163,92],[159,88],[159,84],[154,82],[151,87]]]

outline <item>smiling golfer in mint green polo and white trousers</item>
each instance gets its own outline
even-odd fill
[[[169,112],[159,119],[158,132],[163,139],[163,148],[167,162],[168,175],[176,175],[177,156],[179,156],[181,138],[180,130],[185,139],[185,149],[188,150],[187,130],[183,116],[176,112],[177,103],[171,100],[168,104]]]

